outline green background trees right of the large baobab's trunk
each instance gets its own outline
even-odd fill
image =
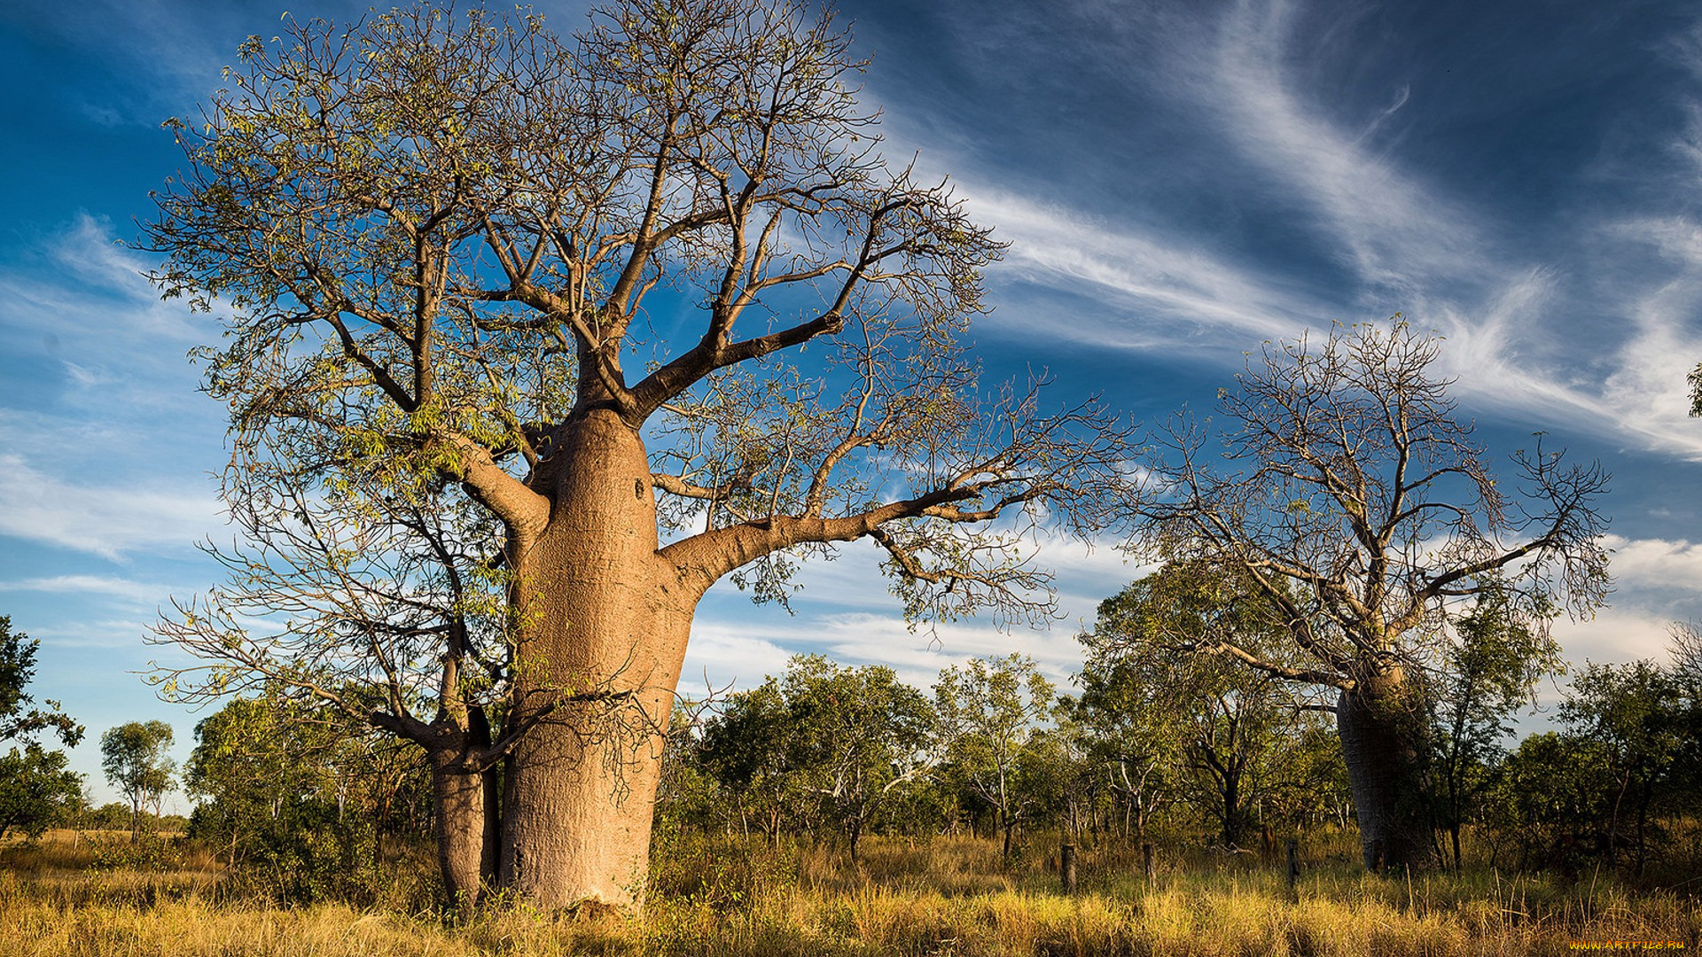
[[[931,695],[882,666],[793,657],[781,678],[676,729],[657,814],[672,828],[841,841],[853,857],[877,833],[974,833],[1011,855],[1019,829],[1268,851],[1353,828],[1328,707],[1220,656],[1140,642],[1142,616],[1200,611],[1154,605],[1188,574],[1166,567],[1099,606],[1074,693],[1055,695],[1021,656],[948,668]],[[1520,741],[1511,720],[1561,662],[1530,654],[1498,593],[1452,622],[1447,654],[1414,678],[1421,790],[1408,800],[1430,860],[1627,875],[1693,865],[1695,635],[1675,625],[1670,666],[1586,664],[1554,710],[1561,727]]]

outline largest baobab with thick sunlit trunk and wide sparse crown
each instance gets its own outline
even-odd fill
[[[783,598],[797,559],[870,538],[911,613],[1050,608],[1008,545],[1111,514],[1122,426],[980,387],[958,339],[1001,247],[882,160],[831,17],[621,0],[570,41],[427,7],[284,32],[175,124],[146,244],[165,295],[225,318],[206,383],[238,448],[328,499],[441,482],[497,526],[497,885],[638,899],[717,581]]]

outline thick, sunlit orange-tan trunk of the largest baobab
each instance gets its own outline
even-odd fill
[[[545,909],[642,901],[662,742],[698,593],[657,557],[643,444],[613,412],[553,451],[550,523],[514,555],[517,710],[499,885]]]

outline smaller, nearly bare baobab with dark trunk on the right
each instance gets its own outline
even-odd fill
[[[1203,637],[1275,678],[1338,691],[1336,725],[1365,862],[1431,858],[1423,809],[1423,668],[1445,615],[1491,589],[1511,627],[1547,637],[1556,608],[1608,589],[1598,463],[1542,446],[1494,478],[1435,366],[1442,342],[1406,324],[1334,327],[1266,346],[1219,393],[1225,429],[1186,415],[1156,433],[1139,542],[1242,577],[1285,633],[1285,659]],[[1219,455],[1220,448],[1220,455]]]

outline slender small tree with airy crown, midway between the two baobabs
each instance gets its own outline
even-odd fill
[[[1052,683],[1019,654],[946,668],[934,685],[950,773],[992,809],[1006,862],[1016,826],[1042,807],[1052,708]]]

